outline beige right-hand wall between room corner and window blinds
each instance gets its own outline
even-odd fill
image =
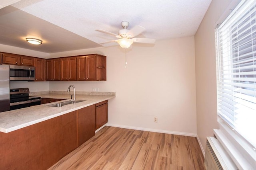
[[[203,149],[206,137],[218,129],[214,27],[231,1],[212,0],[195,35],[197,135]]]

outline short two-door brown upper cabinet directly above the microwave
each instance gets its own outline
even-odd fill
[[[2,63],[14,65],[34,66],[34,57],[3,53]]]

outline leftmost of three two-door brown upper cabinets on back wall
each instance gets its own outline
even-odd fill
[[[60,59],[46,60],[46,80],[58,81],[60,80]]]

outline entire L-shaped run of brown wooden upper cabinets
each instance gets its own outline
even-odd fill
[[[98,54],[41,59],[0,53],[0,64],[35,66],[35,81],[104,81],[106,56]]]

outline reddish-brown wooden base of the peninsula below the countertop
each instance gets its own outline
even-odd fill
[[[95,135],[95,116],[100,115],[98,121],[102,122],[106,102],[96,104],[98,108],[91,105],[16,131],[0,132],[0,170],[50,168]]]

